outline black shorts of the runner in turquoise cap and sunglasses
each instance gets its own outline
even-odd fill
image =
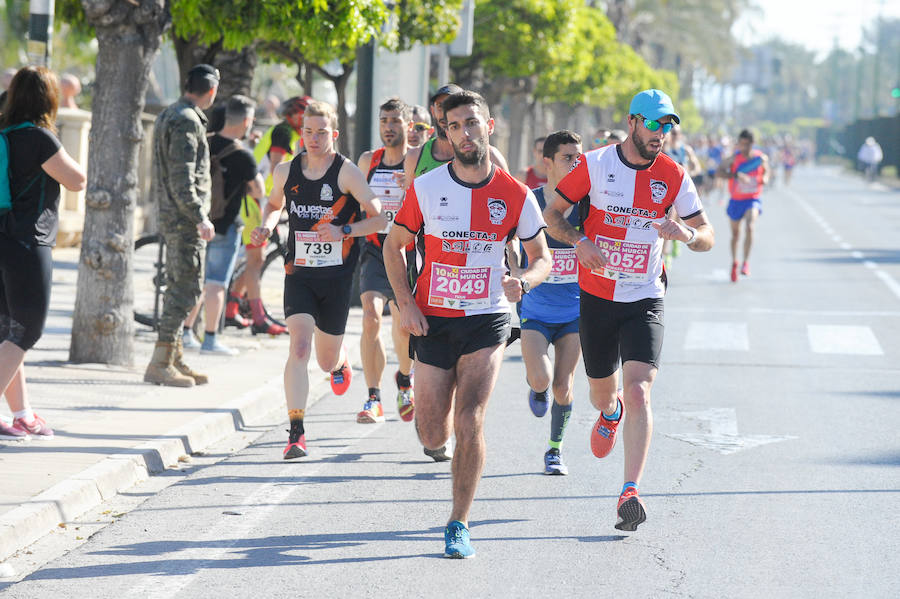
[[[662,298],[614,302],[581,291],[581,352],[592,379],[629,360],[659,368],[664,331]]]

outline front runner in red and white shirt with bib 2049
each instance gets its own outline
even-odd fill
[[[384,263],[403,328],[413,335],[419,438],[425,447],[439,448],[456,432],[444,555],[465,558],[475,553],[467,522],[484,466],[484,414],[509,334],[509,302],[547,276],[550,253],[534,194],[491,164],[494,121],[484,98],[458,92],[444,108],[455,160],[407,190],[384,243]],[[504,265],[513,235],[529,260],[518,279]],[[416,236],[424,243],[425,264],[413,297],[403,252]]]

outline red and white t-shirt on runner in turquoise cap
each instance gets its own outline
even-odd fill
[[[618,145],[605,146],[579,156],[556,191],[573,204],[589,196],[584,234],[608,260],[603,269],[579,269],[582,291],[617,302],[665,295],[663,240],[651,223],[662,223],[672,207],[683,219],[703,211],[681,165],[659,154],[641,168],[628,164]]]

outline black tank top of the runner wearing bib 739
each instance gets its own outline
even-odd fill
[[[325,175],[315,181],[310,181],[303,175],[302,160],[303,154],[291,161],[291,170],[284,183],[284,198],[290,227],[284,263],[285,272],[306,278],[352,274],[359,258],[359,244],[355,237],[345,237],[340,242],[340,248],[309,240],[301,242],[301,246],[298,247],[296,235],[297,232],[316,231],[325,223],[340,227],[360,219],[359,202],[349,192],[341,191],[338,185],[338,173],[347,158],[335,154],[334,161]],[[314,265],[318,256],[327,262],[336,261],[334,250],[337,249],[340,249],[340,263],[331,266]],[[304,266],[303,262],[313,265]]]

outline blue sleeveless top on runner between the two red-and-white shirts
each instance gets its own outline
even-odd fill
[[[544,188],[533,191],[541,210],[543,210],[547,206],[547,201],[544,199]],[[572,212],[569,213],[566,220],[573,227],[581,230],[577,204],[572,207]],[[580,290],[578,288],[578,259],[575,257],[575,249],[549,235],[547,235],[547,245],[550,246],[550,252],[553,254],[550,276],[522,297],[520,318],[523,321],[530,318],[550,324],[577,320]],[[522,261],[525,266],[528,265],[528,256],[524,251],[522,252]]]

